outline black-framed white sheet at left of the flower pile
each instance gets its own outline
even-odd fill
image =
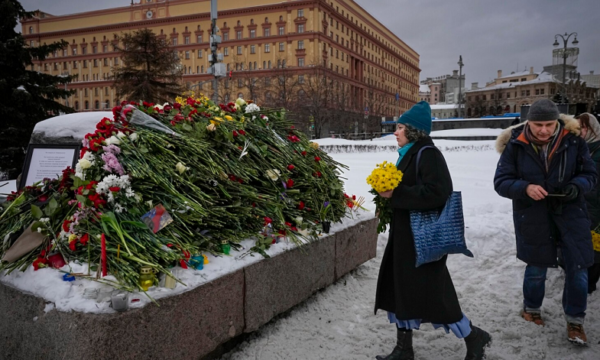
[[[74,169],[79,149],[80,145],[29,144],[19,189],[45,178],[57,179],[67,166]]]

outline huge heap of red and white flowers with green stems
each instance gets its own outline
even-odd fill
[[[193,255],[227,254],[247,238],[267,256],[278,239],[315,239],[323,222],[356,205],[338,178],[345,166],[284,111],[192,94],[173,104],[124,102],[113,115],[85,136],[74,170],[3,205],[0,257],[29,225],[44,242],[0,270],[52,266],[58,254],[91,264],[96,274],[84,275],[140,289],[142,266],[172,276],[169,268]],[[143,218],[158,208],[169,221],[152,228]]]

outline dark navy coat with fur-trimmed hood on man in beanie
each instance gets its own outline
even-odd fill
[[[596,184],[596,165],[585,141],[578,136],[577,121],[564,116],[561,119],[569,133],[562,139],[547,172],[521,135],[523,125],[509,128],[498,137],[497,149],[502,155],[494,187],[498,194],[513,201],[517,258],[534,266],[556,267],[560,246],[568,269],[585,269],[594,263],[594,254],[583,196]],[[559,194],[566,185],[575,184],[579,197],[570,202],[552,197],[535,201],[526,193],[529,184],[540,185],[550,194]]]

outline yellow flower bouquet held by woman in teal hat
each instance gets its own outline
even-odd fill
[[[392,209],[389,206],[390,199],[381,197],[379,193],[395,189],[402,181],[402,171],[396,165],[384,161],[377,164],[371,175],[367,177],[367,184],[371,185],[371,194],[375,195],[376,214],[379,217],[377,231],[385,232],[388,224],[392,221]]]

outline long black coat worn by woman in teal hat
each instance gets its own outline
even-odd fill
[[[433,145],[430,138],[416,142],[398,164],[404,177],[392,195],[394,215],[377,280],[375,312],[390,311],[399,320],[451,324],[462,318],[462,311],[446,267],[447,257],[415,267],[409,210],[441,210],[452,192],[448,166],[436,149],[421,153],[421,184],[416,184],[417,153],[426,145]]]

